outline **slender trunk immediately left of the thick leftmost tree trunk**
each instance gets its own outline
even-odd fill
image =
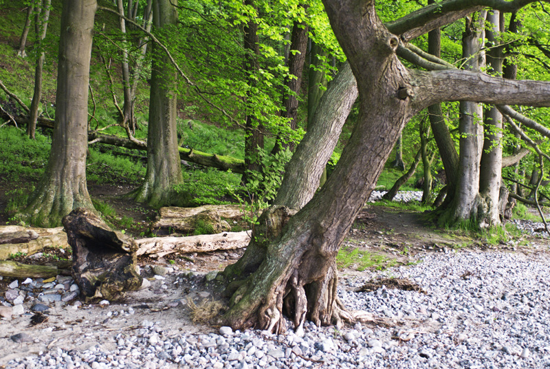
[[[52,0],[43,1],[41,11],[36,14],[36,38],[38,39],[39,48],[41,48],[43,40],[46,38],[47,23],[50,19],[50,7]],[[41,51],[40,56],[36,59],[36,68],[34,70],[34,94],[30,104],[29,122],[27,123],[27,136],[34,140],[34,132],[36,131],[36,120],[39,118],[39,105],[42,97],[42,70],[46,59],[45,52]]]

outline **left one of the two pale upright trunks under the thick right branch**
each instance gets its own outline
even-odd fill
[[[467,59],[466,67],[472,71],[479,71],[483,66],[480,39],[483,39],[485,11],[477,13],[477,19],[467,21],[463,34],[463,58]],[[481,142],[483,127],[481,126],[482,113],[480,104],[472,101],[460,103],[460,155],[459,180],[453,201],[446,210],[447,214],[441,217],[441,222],[454,224],[477,219],[479,204],[479,160],[481,156]]]

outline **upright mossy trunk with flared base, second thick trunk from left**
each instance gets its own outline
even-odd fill
[[[153,27],[156,32],[177,23],[177,3],[158,0],[153,3]],[[177,145],[176,94],[177,74],[162,50],[153,44],[151,98],[147,131],[147,173],[135,192],[137,202],[151,207],[183,205],[174,187],[183,182]]]

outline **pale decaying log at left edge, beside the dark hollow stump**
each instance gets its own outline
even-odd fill
[[[63,232],[63,227],[57,228],[28,228],[25,226],[0,226],[0,238],[8,238],[6,234],[13,233],[36,233],[38,238],[25,243],[10,242],[0,244],[0,260],[8,260],[10,255],[16,253],[25,253],[32,255],[41,251],[45,247],[61,247],[67,249],[67,234]],[[33,236],[34,237],[34,236]],[[1,243],[1,242],[0,242]]]

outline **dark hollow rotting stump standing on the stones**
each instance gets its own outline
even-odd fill
[[[83,297],[115,299],[122,291],[140,288],[135,241],[113,231],[97,215],[83,208],[63,218],[73,250],[72,274]]]

